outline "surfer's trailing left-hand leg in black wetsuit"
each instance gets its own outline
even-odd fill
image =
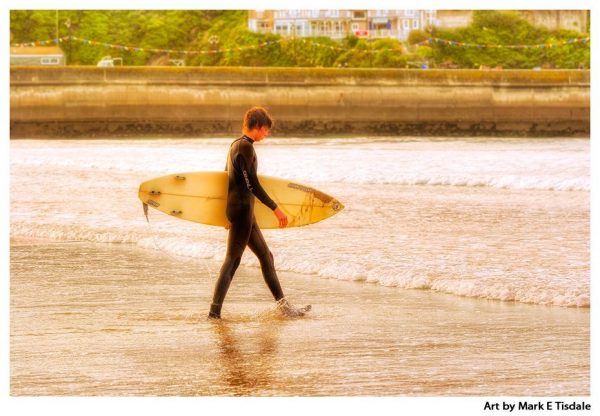
[[[248,239],[252,232],[252,220],[253,213],[248,210],[238,213],[236,218],[231,222],[231,228],[227,237],[227,254],[225,255],[225,261],[221,266],[219,278],[215,284],[215,292],[209,314],[211,318],[219,318],[221,316],[221,306],[225,300],[225,295],[227,295],[233,275],[240,265],[242,254],[248,245]]]

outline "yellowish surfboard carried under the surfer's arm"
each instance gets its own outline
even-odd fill
[[[334,197],[310,186],[270,176],[258,176],[267,194],[288,216],[288,227],[301,227],[337,214],[344,206]],[[139,198],[173,217],[200,224],[225,226],[227,172],[189,172],[161,176],[143,182]],[[270,208],[256,199],[254,215],[260,228],[278,228]]]

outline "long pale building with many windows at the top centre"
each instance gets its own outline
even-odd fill
[[[435,10],[251,10],[248,28],[289,37],[405,40],[412,30],[430,27],[434,17]]]

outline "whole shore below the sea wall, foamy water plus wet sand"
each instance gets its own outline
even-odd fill
[[[270,138],[259,174],[335,196],[265,230],[206,320],[226,231],[150,210],[231,140],[11,141],[14,396],[586,396],[587,139]]]

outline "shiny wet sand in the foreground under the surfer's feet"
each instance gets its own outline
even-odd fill
[[[584,396],[588,308],[280,273],[285,319],[241,267],[127,244],[11,241],[13,396]]]

